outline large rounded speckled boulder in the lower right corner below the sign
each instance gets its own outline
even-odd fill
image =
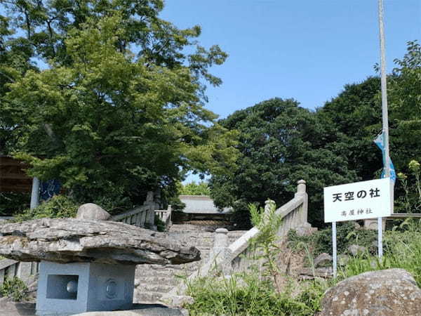
[[[421,315],[421,290],[403,269],[365,272],[326,291],[319,316]]]

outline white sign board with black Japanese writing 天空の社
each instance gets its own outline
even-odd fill
[[[390,178],[325,187],[325,223],[389,216],[392,213]]]

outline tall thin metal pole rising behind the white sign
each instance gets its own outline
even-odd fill
[[[383,142],[385,145],[385,173],[390,176],[389,155],[389,118],[387,114],[387,80],[386,80],[386,53],[385,53],[385,23],[383,22],[383,1],[379,0],[379,30],[380,30],[380,70],[382,83],[382,126]]]

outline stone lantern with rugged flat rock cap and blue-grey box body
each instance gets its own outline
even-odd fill
[[[135,266],[200,260],[164,233],[105,220],[41,218],[0,225],[0,255],[41,261],[36,315],[128,310]]]

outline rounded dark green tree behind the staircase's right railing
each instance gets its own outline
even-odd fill
[[[352,182],[342,156],[326,147],[328,131],[316,115],[293,99],[274,98],[234,112],[220,121],[240,133],[239,168],[210,179],[211,195],[218,206],[233,206],[239,224],[250,225],[248,204],[263,205],[268,197],[282,205],[307,181],[309,220],[322,223],[323,187]]]

